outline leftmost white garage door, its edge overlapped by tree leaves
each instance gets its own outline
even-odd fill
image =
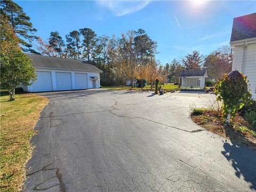
[[[52,75],[49,71],[36,71],[37,81],[33,84],[33,92],[52,91]]]

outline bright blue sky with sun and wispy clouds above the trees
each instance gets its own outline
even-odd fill
[[[37,36],[51,31],[65,38],[91,28],[121,36],[142,28],[158,42],[162,64],[198,50],[208,54],[229,45],[234,17],[256,12],[256,1],[16,1],[29,15]]]

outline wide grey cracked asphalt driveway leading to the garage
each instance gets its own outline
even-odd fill
[[[202,129],[198,93],[87,90],[50,98],[35,129],[25,191],[256,189],[256,151]]]

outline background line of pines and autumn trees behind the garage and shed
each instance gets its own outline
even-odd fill
[[[35,35],[37,30],[17,3],[1,0],[2,15],[23,51],[87,61],[103,71],[102,85],[125,85],[127,79],[145,79],[152,85],[156,78],[161,83],[174,83],[182,70],[201,68],[207,69],[210,78],[217,79],[231,70],[232,57],[227,46],[205,56],[193,51],[162,65],[156,60],[157,42],[143,29],[129,30],[119,37],[99,36],[90,28],[75,29],[65,37],[52,31],[45,40]]]

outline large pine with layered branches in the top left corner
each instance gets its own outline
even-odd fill
[[[33,27],[28,15],[23,12],[22,7],[11,0],[1,0],[1,17],[3,15],[7,17],[14,33],[18,36],[22,50],[37,53],[31,44],[36,39],[34,34],[37,30]]]

